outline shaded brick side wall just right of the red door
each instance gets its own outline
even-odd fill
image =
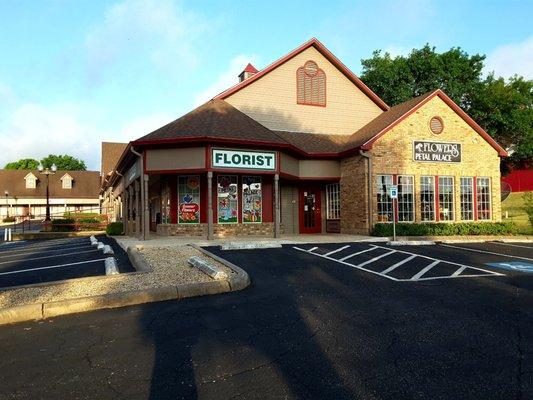
[[[357,155],[341,161],[341,233],[368,234],[368,167]]]

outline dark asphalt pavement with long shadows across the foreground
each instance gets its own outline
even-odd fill
[[[533,398],[533,274],[488,265],[533,248],[395,247],[393,280],[400,253],[346,245],[212,248],[252,285],[0,327],[0,399]]]

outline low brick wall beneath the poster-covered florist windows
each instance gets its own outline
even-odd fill
[[[207,236],[207,224],[160,224],[157,233],[165,236]],[[214,224],[213,233],[215,237],[274,236],[274,223]]]

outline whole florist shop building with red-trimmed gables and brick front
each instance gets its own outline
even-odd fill
[[[316,39],[238,80],[126,146],[102,193],[127,233],[500,220],[506,152],[442,91],[389,107]]]

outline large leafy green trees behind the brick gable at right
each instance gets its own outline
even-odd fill
[[[439,54],[429,45],[394,58],[378,50],[361,60],[361,79],[391,106],[442,89],[509,150],[505,164],[523,165],[533,159],[533,81],[483,79],[484,59],[460,48]]]

